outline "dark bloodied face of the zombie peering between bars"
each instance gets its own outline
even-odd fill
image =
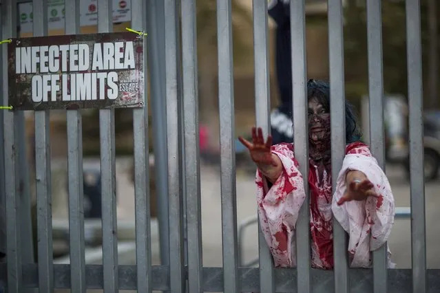
[[[330,138],[330,113],[315,98],[308,102],[308,135],[311,143]]]

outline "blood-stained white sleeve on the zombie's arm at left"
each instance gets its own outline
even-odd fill
[[[269,188],[266,178],[257,171],[258,215],[275,266],[289,268],[295,261],[295,224],[304,202],[304,182],[293,155],[292,144],[272,146],[282,162],[282,174]]]

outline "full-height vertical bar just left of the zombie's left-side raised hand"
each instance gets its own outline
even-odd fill
[[[238,276],[237,199],[231,0],[217,0],[218,105],[224,292],[240,292]]]

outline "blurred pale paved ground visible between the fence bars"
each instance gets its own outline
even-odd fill
[[[118,160],[118,219],[134,219],[134,188],[127,177],[126,170],[129,161]],[[220,204],[220,173],[218,168],[211,166],[201,167],[202,189],[202,243],[203,265],[222,266],[222,226]],[[396,166],[387,166],[387,175],[390,179],[397,206],[410,206],[409,183],[402,169]],[[237,210],[238,223],[253,217],[255,213],[255,186],[253,177],[243,172],[237,176]],[[429,268],[440,268],[440,216],[437,208],[440,207],[440,181],[426,184],[426,232],[427,232],[427,259]],[[60,199],[61,202],[63,201]],[[60,203],[61,203],[60,202]],[[60,214],[63,213],[59,210]],[[67,215],[67,214],[64,214]],[[154,231],[153,231],[154,232]],[[244,237],[244,259],[250,261],[258,257],[257,226],[247,229]],[[158,239],[154,237],[153,263],[159,263]],[[390,249],[393,261],[398,268],[410,268],[410,220],[397,219],[390,236]],[[134,263],[134,254],[121,256],[120,264]],[[98,291],[96,291],[98,292]]]

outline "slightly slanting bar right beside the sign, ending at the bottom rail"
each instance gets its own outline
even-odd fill
[[[164,2],[147,0],[148,64],[158,209],[160,262],[169,265],[167,109],[165,100]]]

